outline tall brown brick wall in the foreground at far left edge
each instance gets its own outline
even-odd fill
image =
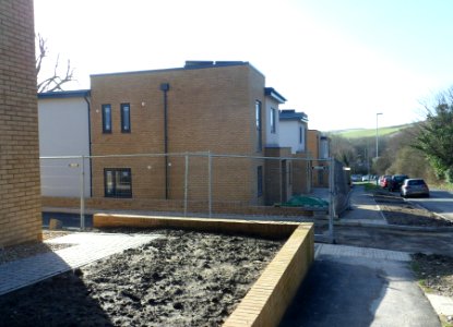
[[[0,1],[0,245],[40,239],[32,0]]]

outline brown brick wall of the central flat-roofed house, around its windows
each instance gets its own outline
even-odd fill
[[[163,70],[92,76],[92,154],[163,154],[164,94],[168,83],[168,153],[262,155],[255,150],[254,101],[263,104],[264,76],[252,66]],[[131,133],[121,133],[120,104],[131,106]],[[102,132],[102,105],[112,109],[112,133]],[[265,131],[263,131],[264,140]],[[170,157],[169,198],[183,198],[184,160]],[[214,198],[262,204],[262,160],[213,158]],[[104,196],[104,168],[131,168],[134,198],[165,198],[164,158],[93,159],[93,196]],[[189,196],[207,197],[207,159],[190,158]]]

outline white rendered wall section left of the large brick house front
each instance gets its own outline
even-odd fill
[[[90,155],[88,105],[83,97],[38,99],[38,119],[40,157]],[[79,197],[81,168],[81,159],[40,159],[41,195]],[[90,159],[84,170],[90,196]]]

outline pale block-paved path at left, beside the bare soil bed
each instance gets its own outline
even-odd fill
[[[0,265],[0,295],[33,284],[100,258],[138,247],[158,234],[71,233],[47,240],[50,244],[72,246]]]

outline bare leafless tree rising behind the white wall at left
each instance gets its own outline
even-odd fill
[[[68,59],[65,72],[63,71],[63,73],[61,73],[60,56],[58,56],[53,66],[53,73],[49,77],[41,78],[40,74],[43,73],[43,62],[48,56],[47,40],[40,34],[38,34],[36,36],[36,43],[38,46],[36,53],[36,74],[38,80],[38,93],[63,90],[63,84],[75,81],[74,69],[71,66],[71,61]]]

